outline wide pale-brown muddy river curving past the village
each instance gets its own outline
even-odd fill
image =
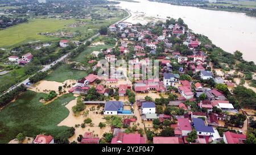
[[[256,18],[244,13],[214,11],[197,7],[175,6],[167,3],[136,0],[120,2],[117,6],[131,12],[126,22],[145,24],[150,21],[182,18],[196,33],[208,36],[213,44],[226,52],[238,50],[247,61],[256,62]]]

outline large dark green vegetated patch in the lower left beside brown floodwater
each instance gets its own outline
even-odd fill
[[[63,119],[67,118],[69,111],[65,104],[75,99],[73,94],[65,94],[53,102],[43,105],[39,102],[44,93],[35,93],[27,90],[15,102],[8,104],[0,112],[0,143],[8,143],[18,133],[34,137],[40,133],[56,136],[68,127],[58,127]]]

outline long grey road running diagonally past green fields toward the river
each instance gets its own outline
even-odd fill
[[[119,23],[119,22],[122,22],[123,20],[126,20],[127,18],[129,18],[129,17],[131,16],[131,14],[130,14],[129,11],[127,11],[127,12],[129,13],[129,16],[127,16],[127,17],[125,17],[125,18],[119,20],[119,21],[116,22],[115,24],[117,24],[117,23]],[[90,37],[89,39],[85,40],[85,41],[84,41],[84,44],[86,43],[86,41],[92,41],[92,39],[93,39],[94,37],[97,37],[97,36],[100,36],[100,33],[97,33],[96,35],[94,35],[94,36]],[[52,68],[52,66],[53,66],[54,64],[56,64],[57,62],[63,61],[66,57],[68,57],[68,55],[69,55],[69,53],[67,53],[67,54],[65,54],[64,56],[60,57],[60,58],[57,59],[55,62],[52,62],[52,63],[49,64],[49,65],[43,66],[44,68],[41,69],[41,70],[39,70],[38,72],[47,71],[48,69]],[[32,75],[32,76],[34,76],[34,75]],[[32,76],[31,76],[31,77],[32,77]],[[20,86],[20,85],[22,85],[22,84],[23,84],[23,85],[26,85],[28,82],[30,82],[29,78],[25,79],[24,81],[20,82],[19,84],[16,84],[16,85],[14,85],[14,86],[11,86],[11,87],[10,87],[7,91],[5,91],[5,93],[3,93],[3,94],[9,93],[9,91],[14,90],[16,87],[18,87],[18,86]],[[2,96],[2,95],[1,95],[1,96]]]

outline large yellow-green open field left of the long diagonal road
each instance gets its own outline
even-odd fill
[[[24,44],[30,41],[49,41],[55,37],[37,35],[39,32],[55,32],[67,24],[75,23],[75,20],[59,19],[32,19],[28,23],[18,24],[14,27],[0,30],[0,47],[6,48],[13,45]]]

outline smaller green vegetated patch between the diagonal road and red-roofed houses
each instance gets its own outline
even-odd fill
[[[71,69],[69,64],[63,64],[50,73],[45,80],[64,82],[67,79],[80,79],[87,76],[85,70],[75,70]]]

